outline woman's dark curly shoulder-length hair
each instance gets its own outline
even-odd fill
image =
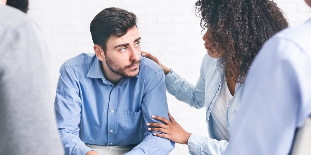
[[[211,33],[211,52],[218,51],[220,62],[230,66],[234,82],[245,81],[262,45],[289,26],[273,0],[198,0],[195,6],[201,27]]]

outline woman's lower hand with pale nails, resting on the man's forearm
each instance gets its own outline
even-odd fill
[[[169,113],[169,120],[160,116],[151,116],[153,119],[164,122],[161,123],[147,123],[147,126],[157,127],[148,128],[148,131],[158,131],[165,134],[154,133],[155,136],[169,139],[175,143],[188,144],[188,139],[191,133],[186,132],[183,128],[174,120],[174,118]]]

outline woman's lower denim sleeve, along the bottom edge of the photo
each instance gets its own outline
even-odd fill
[[[218,141],[210,137],[205,137],[192,133],[188,140],[188,149],[191,155],[220,155],[225,152],[228,144],[229,143],[226,140]]]

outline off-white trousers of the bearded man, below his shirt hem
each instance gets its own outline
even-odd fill
[[[132,148],[127,145],[102,146],[102,145],[86,144],[86,146],[96,151],[100,155],[123,155],[132,150]]]

